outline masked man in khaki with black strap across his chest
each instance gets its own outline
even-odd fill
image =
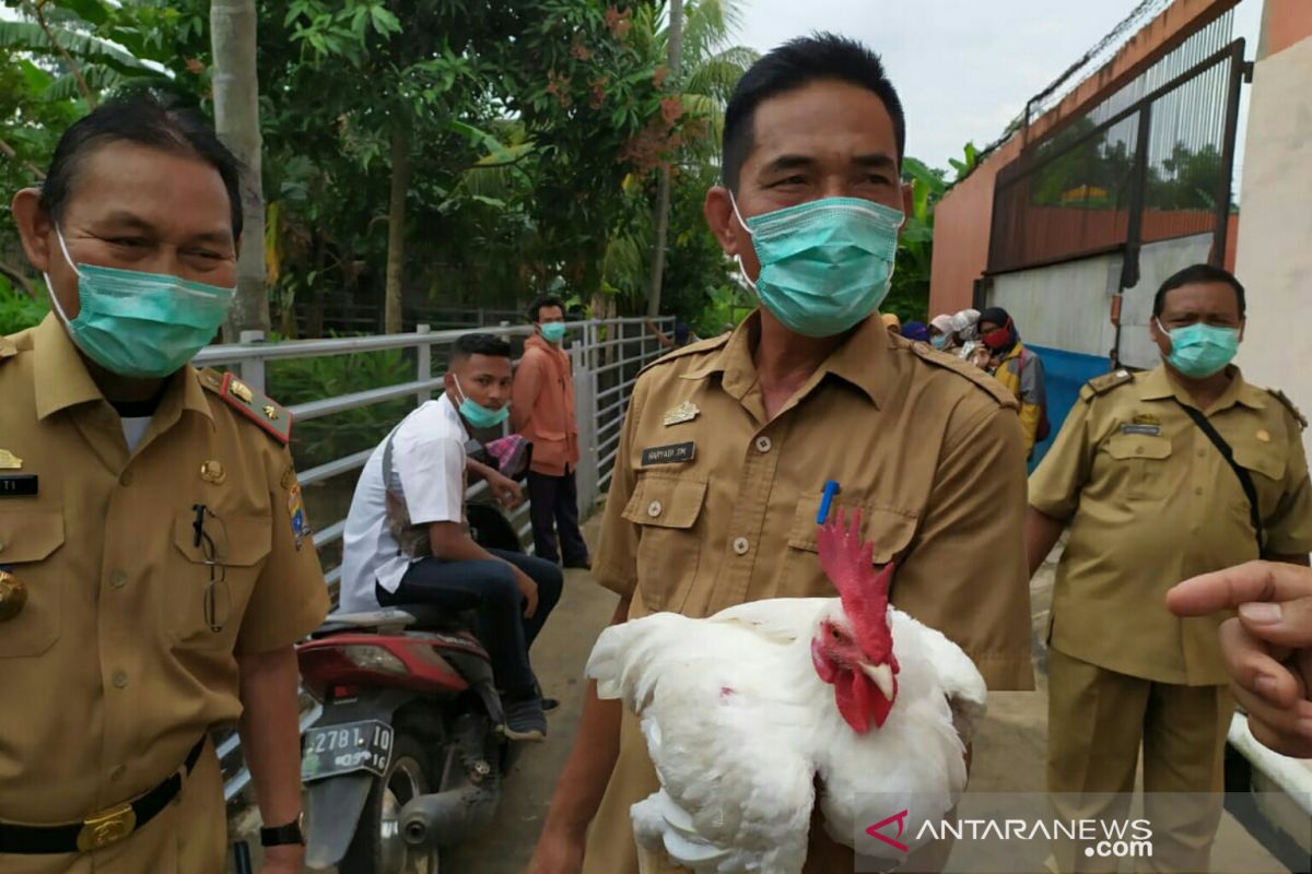
[[[1305,565],[1312,549],[1304,422],[1283,394],[1229,366],[1242,286],[1224,270],[1189,267],[1162,284],[1153,313],[1164,363],[1085,385],[1030,478],[1031,573],[1071,527],[1048,641],[1055,794],[1134,791],[1140,744],[1147,791],[1221,791],[1233,705],[1216,629],[1227,615],[1177,618],[1165,594],[1260,554]],[[1227,444],[1256,506],[1195,419]],[[1155,870],[1207,870],[1220,795],[1181,801],[1148,799]],[[1056,802],[1123,815],[1123,799]],[[1063,852],[1063,870],[1094,864]]]

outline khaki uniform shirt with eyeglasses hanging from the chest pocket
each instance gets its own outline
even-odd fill
[[[28,588],[25,608],[0,622],[0,822],[79,822],[155,788],[207,729],[241,713],[235,656],[287,646],[327,613],[314,544],[293,528],[291,456],[218,383],[192,367],[174,375],[130,455],[54,316],[0,338],[0,474],[39,477],[35,495],[0,497],[0,567]],[[195,503],[222,522],[205,527],[226,558],[218,633]],[[113,849],[136,867],[113,870],[172,870],[131,852],[139,836]],[[0,858],[0,870],[37,858]]]

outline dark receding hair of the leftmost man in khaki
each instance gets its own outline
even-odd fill
[[[41,185],[41,208],[52,221],[63,218],[87,156],[117,142],[195,157],[218,170],[232,206],[232,237],[241,236],[241,162],[198,111],[173,94],[147,90],[105,101],[59,138]]]

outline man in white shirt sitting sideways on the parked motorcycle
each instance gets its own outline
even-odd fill
[[[541,558],[484,549],[464,522],[467,466],[488,478],[493,491],[517,493],[505,477],[467,463],[464,455],[470,427],[505,421],[510,381],[509,343],[491,334],[466,334],[451,351],[445,394],[405,417],[374,449],[346,516],[341,607],[424,601],[453,611],[476,608],[476,632],[492,656],[506,736],[542,740],[547,721],[529,647],[560,600],[564,578]],[[404,548],[394,535],[398,515]]]

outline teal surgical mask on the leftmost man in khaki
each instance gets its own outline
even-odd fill
[[[50,301],[73,345],[106,371],[135,379],[163,379],[192,360],[227,318],[234,288],[143,273],[73,263],[64,235],[59,248],[77,274],[77,317],[70,320],[50,276]]]

